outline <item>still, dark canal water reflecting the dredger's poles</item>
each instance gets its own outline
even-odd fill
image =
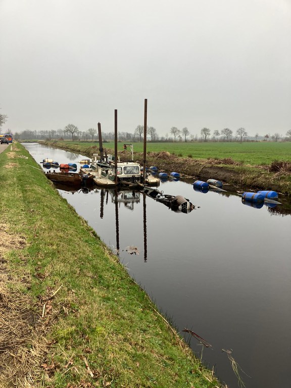
[[[25,144],[37,162],[78,162],[83,156],[35,143]],[[213,177],[215,178],[215,177]],[[247,388],[290,386],[291,216],[285,205],[261,209],[235,195],[196,192],[191,184],[167,181],[159,187],[200,206],[175,213],[135,193],[94,188],[87,194],[60,190],[190,346],[228,388],[238,386],[224,350],[244,372]],[[117,205],[116,205],[117,198]],[[285,200],[283,200],[286,203]],[[290,205],[290,204],[289,204]],[[126,249],[137,247],[139,255]],[[189,340],[186,334],[186,340]]]

